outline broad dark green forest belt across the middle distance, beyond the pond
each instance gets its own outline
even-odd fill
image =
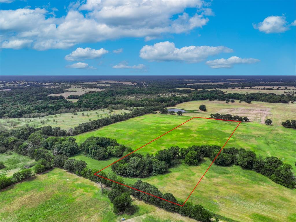
[[[59,114],[79,109],[90,110],[111,107],[123,109],[128,107],[166,107],[167,104],[178,104],[191,100],[229,100],[262,101],[268,103],[289,103],[296,101],[296,97],[290,94],[275,95],[273,93],[225,94],[220,90],[178,90],[178,84],[174,82],[160,82],[152,85],[112,85],[104,91],[83,94],[81,96],[70,95],[68,98],[79,99],[73,103],[63,96],[47,96],[49,94],[62,93],[65,87],[10,87],[10,91],[1,91],[0,118],[29,117],[30,114]],[[195,86],[195,85],[194,85]],[[164,96],[160,94],[169,94]],[[180,94],[176,96],[176,94]],[[148,96],[148,98],[147,98]],[[145,98],[146,97],[146,98]],[[132,98],[132,99],[131,99]],[[37,115],[38,116],[38,115]]]

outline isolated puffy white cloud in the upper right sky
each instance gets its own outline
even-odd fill
[[[282,16],[268,16],[258,24],[253,24],[255,29],[258,29],[260,32],[269,33],[282,33],[290,29],[290,26],[296,25],[296,21],[288,24],[286,17]]]

